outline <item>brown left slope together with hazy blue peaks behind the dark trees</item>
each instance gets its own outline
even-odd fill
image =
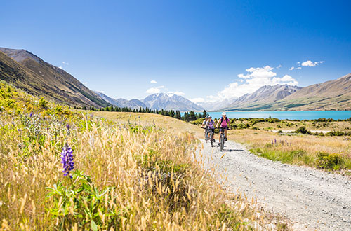
[[[112,104],[131,109],[203,110],[201,106],[176,94],[152,94],[143,101],[112,99],[100,92],[93,92],[63,69],[27,50],[0,48],[0,79],[29,94],[70,106],[100,108]]]

